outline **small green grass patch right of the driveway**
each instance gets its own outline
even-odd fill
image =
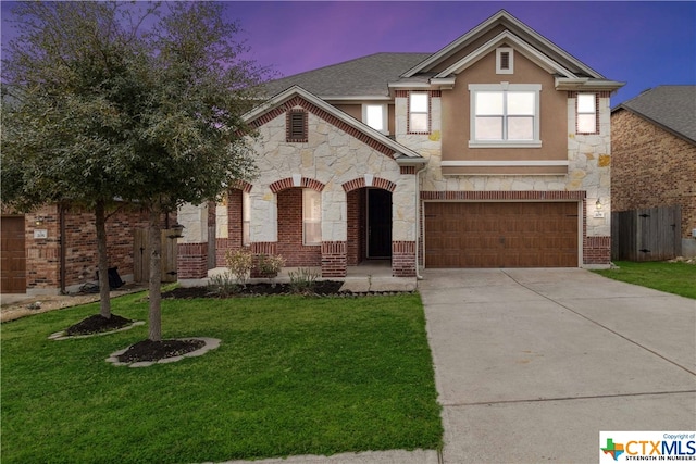
[[[595,271],[605,277],[696,299],[696,265],[618,261],[618,269]]]

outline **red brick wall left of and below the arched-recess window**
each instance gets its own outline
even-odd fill
[[[277,253],[288,267],[314,267],[322,264],[321,246],[302,244],[302,189],[289,188],[277,193]]]

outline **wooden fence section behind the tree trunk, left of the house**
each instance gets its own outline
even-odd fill
[[[162,281],[176,281],[177,240],[174,229],[161,230],[162,234]],[[150,230],[135,229],[133,234],[133,279],[150,280]]]

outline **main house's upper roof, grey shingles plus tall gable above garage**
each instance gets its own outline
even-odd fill
[[[451,60],[482,38],[492,37],[446,70]],[[624,85],[605,78],[505,10],[490,16],[435,53],[375,53],[264,84],[272,96],[300,86],[324,100],[390,100],[395,88],[451,88],[455,74],[501,43],[512,43],[522,54],[556,76],[557,90],[616,90]],[[437,71],[436,71],[437,70]]]

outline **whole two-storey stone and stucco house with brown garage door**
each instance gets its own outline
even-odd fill
[[[395,276],[606,266],[610,217],[596,210],[611,204],[609,98],[622,85],[506,11],[432,54],[271,81],[245,116],[259,177],[215,208],[217,264],[249,247],[324,277],[370,259]],[[206,277],[207,209],[178,212],[179,279]]]

